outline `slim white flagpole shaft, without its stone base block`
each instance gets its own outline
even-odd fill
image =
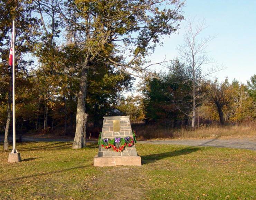
[[[11,153],[18,153],[16,150],[16,120],[15,120],[15,20],[12,20],[12,130],[13,149]]]

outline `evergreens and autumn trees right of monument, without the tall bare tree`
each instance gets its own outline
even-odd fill
[[[193,93],[187,84],[192,83],[189,67],[180,60],[169,66],[169,71],[158,74],[159,79],[148,79],[142,87],[145,119],[164,121],[173,127],[188,127],[199,123],[239,124],[256,119],[256,74],[247,84],[226,78],[220,82],[202,80],[197,85],[195,120],[193,121]],[[194,122],[194,124],[193,124]],[[196,123],[197,122],[197,123]]]

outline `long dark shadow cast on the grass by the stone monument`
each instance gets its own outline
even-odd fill
[[[156,154],[141,156],[142,164],[148,164],[148,163],[155,162],[157,160],[161,160],[164,158],[186,155],[186,154],[198,151],[198,150],[201,150],[201,149],[197,148],[197,147],[187,147],[184,149],[170,151],[170,152],[156,153]]]

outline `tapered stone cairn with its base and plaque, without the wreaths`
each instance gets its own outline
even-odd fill
[[[101,139],[133,137],[129,116],[104,117]],[[104,166],[141,166],[141,157],[138,156],[135,144],[126,146],[123,151],[116,152],[112,148],[105,149],[99,146],[98,155],[93,159],[93,165]]]

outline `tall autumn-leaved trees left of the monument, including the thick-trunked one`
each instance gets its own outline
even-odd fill
[[[148,63],[163,36],[183,20],[179,0],[1,0],[0,126],[11,124],[11,22],[16,21],[17,131],[75,128],[113,112],[134,77],[154,76]],[[26,129],[26,130],[24,130]]]

